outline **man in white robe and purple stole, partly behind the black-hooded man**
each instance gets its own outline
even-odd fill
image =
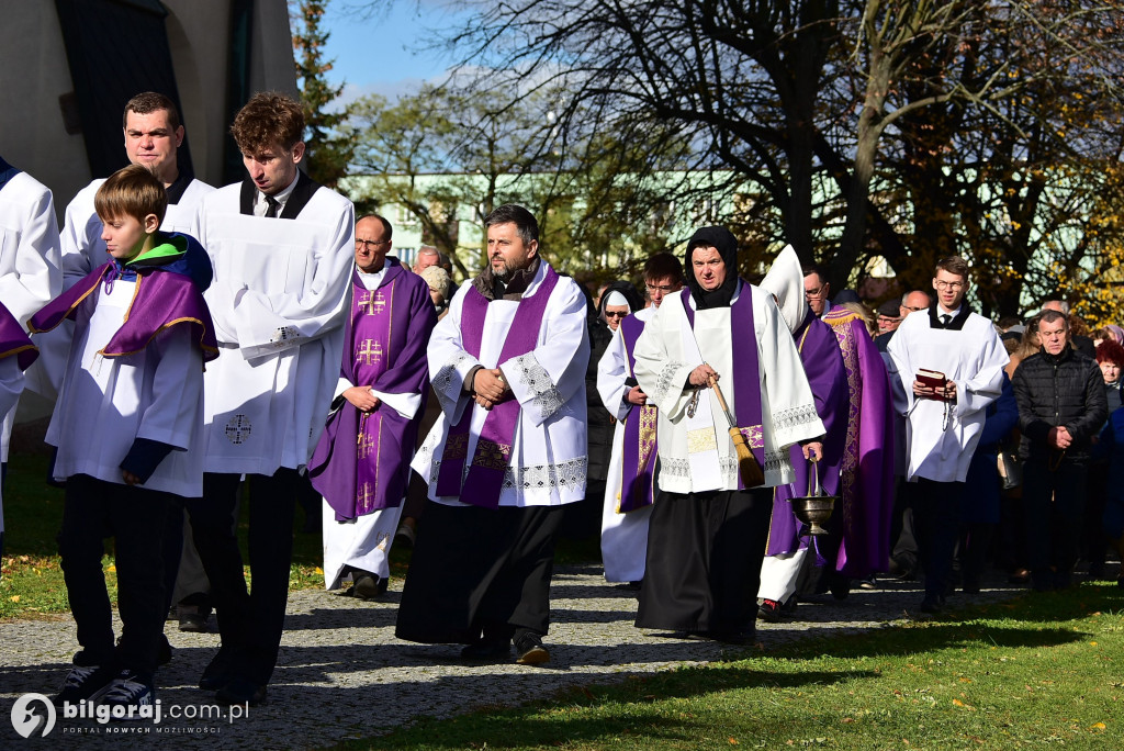
[[[601,563],[607,581],[637,586],[644,578],[647,526],[655,501],[656,416],[633,373],[633,353],[644,325],[665,296],[683,286],[683,266],[671,253],[644,264],[649,307],[620,322],[597,367],[597,391],[614,416],[613,452],[601,509]],[[627,465],[627,467],[626,467]]]

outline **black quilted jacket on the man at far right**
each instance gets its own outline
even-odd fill
[[[1015,400],[1023,459],[1058,460],[1058,451],[1046,441],[1050,428],[1064,425],[1073,443],[1064,461],[1088,462],[1090,438],[1108,416],[1105,380],[1096,361],[1071,347],[1057,358],[1041,350],[1024,360],[1015,371]]]

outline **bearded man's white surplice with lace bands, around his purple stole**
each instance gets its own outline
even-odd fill
[[[549,265],[540,264],[524,297],[542,287]],[[482,365],[504,371],[514,398],[519,402],[519,418],[511,442],[509,467],[500,491],[500,506],[558,506],[586,496],[589,469],[586,442],[586,368],[589,362],[589,332],[586,297],[568,277],[558,280],[547,298],[534,349],[527,354],[498,362],[515,319],[517,300],[488,304],[480,358],[469,354],[461,340],[461,315],[471,281],[457,290],[447,315],[437,322],[429,340],[429,378],[442,414],[418,449],[410,467],[428,480],[429,498],[459,506],[456,497],[437,496],[437,476],[448,426],[455,425],[465,409],[472,409],[468,473],[477,440],[488,411],[478,407],[464,391],[464,378]]]

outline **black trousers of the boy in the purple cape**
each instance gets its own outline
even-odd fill
[[[179,496],[87,474],[66,481],[58,533],[63,578],[82,651],[76,664],[152,673],[164,633],[163,530]],[[121,641],[114,646],[112,612],[101,571],[106,537],[114,537]]]

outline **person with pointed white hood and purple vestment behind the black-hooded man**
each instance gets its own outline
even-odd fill
[[[816,413],[826,431],[823,456],[815,465],[805,461],[799,446],[789,450],[795,479],[788,485],[777,486],[773,495],[769,546],[761,563],[758,600],[761,604],[759,615],[776,621],[780,617],[780,606],[796,594],[797,577],[807,558],[809,543],[807,533],[803,537],[799,534],[800,523],[792,514],[790,500],[808,495],[813,468],[818,472],[824,495],[837,495],[850,402],[839,342],[831,326],[813,313],[805,298],[800,259],[791,245],[773,261],[769,273],[761,280],[761,288],[776,298],[792,332],[792,341],[800,353],[800,362],[816,400]]]

